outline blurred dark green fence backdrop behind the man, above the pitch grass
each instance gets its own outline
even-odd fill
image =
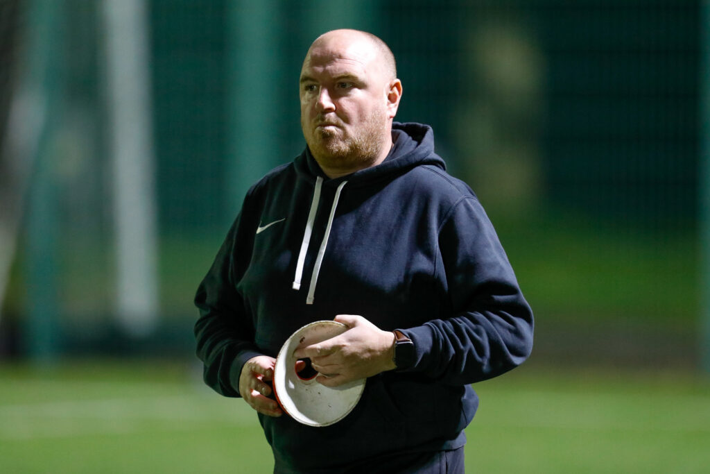
[[[534,357],[710,369],[700,1],[0,5],[0,357],[191,355],[246,189],[304,146],[302,58],[348,26],[488,210]]]

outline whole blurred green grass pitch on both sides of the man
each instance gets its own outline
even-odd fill
[[[155,361],[0,365],[1,473],[269,473],[256,416]],[[476,384],[476,473],[707,473],[710,381],[550,370]]]

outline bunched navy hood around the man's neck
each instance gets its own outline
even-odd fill
[[[415,166],[433,165],[446,170],[444,160],[434,151],[434,132],[430,126],[393,122],[392,141],[392,149],[382,163],[340,178],[325,176],[308,147],[295,159],[295,168],[299,177],[307,181],[315,182],[320,176],[324,185],[337,186],[347,181],[349,188],[405,173]]]

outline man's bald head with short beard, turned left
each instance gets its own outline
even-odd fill
[[[318,37],[303,61],[299,95],[303,136],[328,176],[386,158],[402,85],[380,38],[356,30]]]

